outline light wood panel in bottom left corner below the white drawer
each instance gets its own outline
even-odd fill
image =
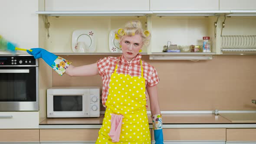
[[[39,144],[39,129],[0,130],[2,144]]]

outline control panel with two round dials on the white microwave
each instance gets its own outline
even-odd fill
[[[98,88],[90,88],[90,117],[100,116],[100,97]]]

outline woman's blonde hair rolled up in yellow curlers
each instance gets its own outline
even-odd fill
[[[142,29],[142,24],[138,20],[129,21],[124,28],[115,31],[115,39],[121,41],[123,36],[134,36],[135,34],[141,35],[144,46],[149,45],[151,34],[148,30]]]

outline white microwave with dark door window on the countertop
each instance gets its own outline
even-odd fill
[[[52,87],[47,89],[47,118],[99,116],[99,87]]]

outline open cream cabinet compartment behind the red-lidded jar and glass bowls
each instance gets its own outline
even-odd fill
[[[212,53],[216,54],[217,45],[214,22],[217,16],[152,16],[151,17],[151,54],[163,51],[164,45],[181,47],[199,45],[202,48],[203,36],[210,36]],[[168,46],[170,43],[168,43]],[[176,46],[177,47],[177,46]],[[182,54],[184,52],[165,52],[162,54]],[[188,52],[188,54],[207,54],[205,52]]]

